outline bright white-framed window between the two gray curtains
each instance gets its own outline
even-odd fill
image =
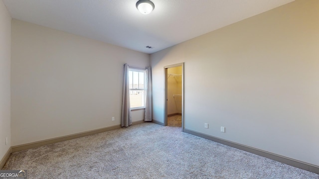
[[[146,71],[129,69],[131,108],[145,108]]]

